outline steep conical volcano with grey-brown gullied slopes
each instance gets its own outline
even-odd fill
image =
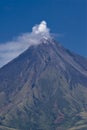
[[[43,38],[1,68],[0,130],[87,130],[87,59]]]

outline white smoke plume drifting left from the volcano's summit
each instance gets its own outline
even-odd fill
[[[0,43],[0,67],[16,58],[31,45],[40,44],[42,37],[51,37],[45,21],[35,25],[31,33],[24,33],[13,41]]]

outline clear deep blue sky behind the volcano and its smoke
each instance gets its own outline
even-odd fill
[[[46,20],[66,48],[87,57],[87,0],[0,0],[0,43]]]

